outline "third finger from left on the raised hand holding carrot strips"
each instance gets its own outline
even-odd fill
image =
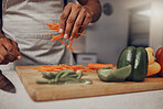
[[[85,17],[86,17],[86,10],[83,9],[79,12],[79,14],[78,14],[78,17],[77,17],[77,19],[75,21],[75,24],[74,24],[74,28],[73,28],[73,31],[72,31],[69,40],[73,40],[77,35],[78,30],[82,26],[82,23],[83,23]]]

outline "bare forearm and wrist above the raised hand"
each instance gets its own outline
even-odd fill
[[[82,6],[85,6],[93,15],[93,21],[96,22],[101,15],[101,6],[99,0],[78,0]]]

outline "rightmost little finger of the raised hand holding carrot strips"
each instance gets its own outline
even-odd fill
[[[86,15],[86,18],[85,18],[85,20],[84,20],[84,22],[83,22],[83,25],[80,26],[78,33],[84,32],[84,30],[85,30],[85,29],[87,28],[87,25],[91,22],[91,20],[93,20],[91,15],[90,15],[89,13],[87,13],[87,15]]]

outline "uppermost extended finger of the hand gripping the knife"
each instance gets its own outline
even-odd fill
[[[18,58],[18,56],[21,56],[18,50],[11,43],[3,43],[3,46],[6,47],[6,50],[8,50],[8,53],[12,54],[14,57]]]

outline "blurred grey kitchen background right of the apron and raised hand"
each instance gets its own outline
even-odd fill
[[[77,64],[116,64],[129,45],[154,50],[163,46],[163,0],[100,0],[100,3],[99,21],[89,24],[84,32],[87,36],[73,44]]]

